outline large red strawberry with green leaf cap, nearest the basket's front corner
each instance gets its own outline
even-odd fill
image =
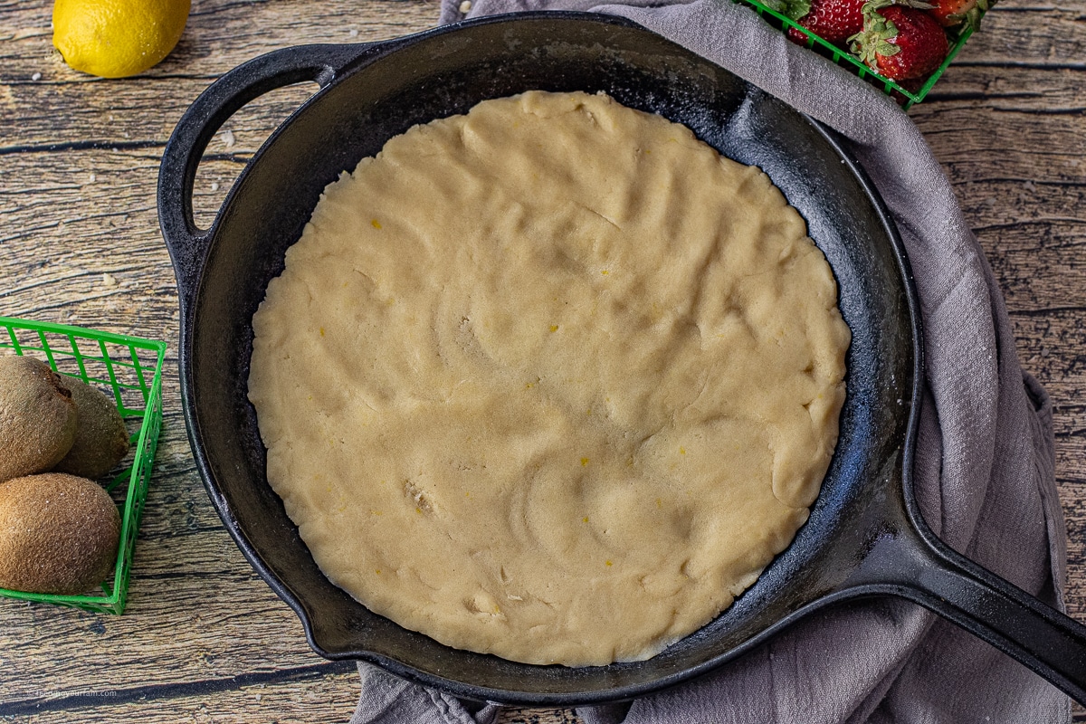
[[[887,78],[930,75],[950,50],[943,27],[922,10],[874,0],[863,5],[863,30],[851,38],[853,52]]]

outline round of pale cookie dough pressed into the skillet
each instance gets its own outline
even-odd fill
[[[528,92],[330,185],[253,318],[268,481],[328,577],[437,640],[648,658],[807,520],[849,331],[756,167]]]

